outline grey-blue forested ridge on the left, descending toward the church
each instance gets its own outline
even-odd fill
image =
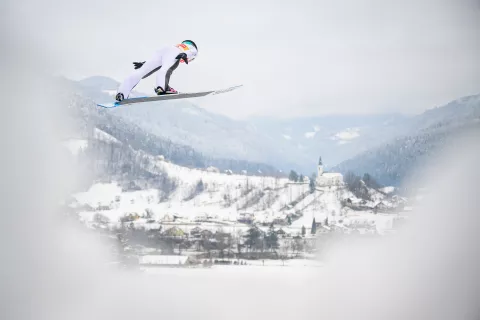
[[[108,109],[102,109],[96,106],[95,102],[86,98],[81,89],[75,82],[65,79],[58,80],[59,98],[62,105],[68,110],[68,125],[65,125],[67,136],[66,140],[89,141],[90,146],[95,145],[99,162],[115,162],[117,169],[125,167],[125,162],[131,158],[129,153],[135,150],[141,150],[153,156],[163,156],[172,163],[191,167],[207,168],[217,167],[221,171],[231,170],[232,172],[245,172],[250,175],[278,175],[279,171],[273,166],[252,161],[213,158],[198,152],[195,148],[172,142],[168,138],[159,137],[151,132],[142,129],[132,121],[119,117]],[[117,147],[122,150],[123,161],[118,158],[110,158],[112,154],[108,150],[98,150],[101,148],[100,136],[110,136],[118,143]],[[106,145],[107,146],[107,145]],[[108,144],[108,148],[112,145]],[[110,155],[109,155],[110,153]],[[119,155],[117,154],[117,157]],[[121,159],[120,159],[121,160]],[[133,164],[130,164],[133,165]],[[110,172],[111,174],[111,172]]]

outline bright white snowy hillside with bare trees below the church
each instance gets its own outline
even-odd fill
[[[113,139],[110,141],[114,142]],[[238,222],[242,219],[268,225],[295,216],[290,226],[283,226],[290,234],[299,234],[303,226],[310,228],[313,219],[324,222],[327,217],[330,223],[343,221],[348,224],[347,218],[355,215],[368,217],[374,223],[383,221],[373,211],[346,210],[342,202],[347,198],[355,199],[355,196],[342,186],[317,188],[311,193],[308,184],[292,183],[286,178],[191,169],[160,157],[143,156],[149,158],[146,169],[153,174],[168,174],[176,182],[176,189],[165,194],[157,189],[124,191],[116,182],[94,184],[89,190],[74,195],[75,206],[90,207],[79,212],[83,221],[92,223],[97,214],[101,214],[116,225],[130,214],[137,216],[134,225],[146,229],[157,228],[158,223],[162,223],[174,224],[188,232],[201,224],[204,229],[236,233],[248,228],[247,224]],[[371,196],[372,201],[367,205],[372,208],[385,198],[384,194],[373,190]],[[392,215],[387,218],[392,219]],[[388,223],[381,224],[388,227]]]

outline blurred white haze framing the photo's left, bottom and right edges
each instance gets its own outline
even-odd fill
[[[411,182],[430,193],[399,235],[335,247],[323,268],[112,271],[107,244],[56,210],[81,173],[62,161],[41,57],[2,42],[2,319],[480,317],[478,136]]]

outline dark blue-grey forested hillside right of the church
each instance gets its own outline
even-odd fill
[[[462,133],[480,132],[480,95],[464,97],[428,110],[407,124],[408,134],[342,162],[333,170],[369,173],[379,182],[399,185]],[[433,162],[432,162],[433,161]]]

